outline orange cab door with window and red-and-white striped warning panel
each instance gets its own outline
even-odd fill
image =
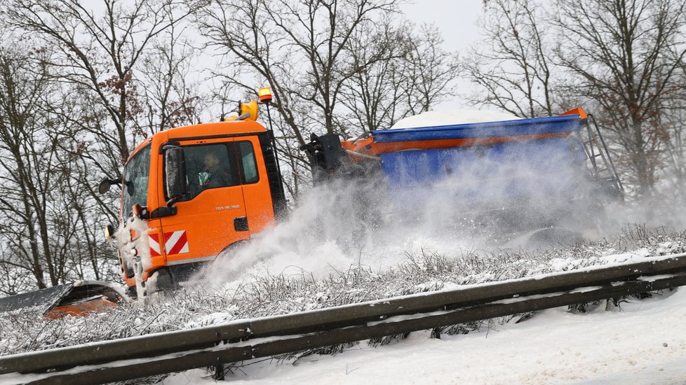
[[[167,265],[211,260],[250,237],[234,139],[181,145],[188,193],[175,204],[177,214],[162,221]]]

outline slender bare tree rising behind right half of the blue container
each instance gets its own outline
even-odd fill
[[[464,63],[478,85],[472,102],[520,117],[550,116],[553,51],[536,1],[490,0],[485,10],[479,22],[484,44],[472,48]]]

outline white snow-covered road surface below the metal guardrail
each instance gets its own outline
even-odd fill
[[[255,360],[231,384],[684,384],[686,290],[620,308],[572,314],[566,307],[521,323],[431,339],[429,331],[377,348],[276,364]],[[210,384],[208,372],[165,385]]]

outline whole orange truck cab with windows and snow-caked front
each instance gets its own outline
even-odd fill
[[[121,183],[119,228],[107,237],[133,296],[186,280],[286,206],[274,136],[255,120],[158,132],[131,153]]]

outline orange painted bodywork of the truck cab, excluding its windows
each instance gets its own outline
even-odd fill
[[[149,265],[144,265],[142,281],[161,267],[212,260],[227,246],[249,239],[275,222],[260,134],[267,134],[267,130],[259,123],[234,120],[173,128],[154,134],[137,146],[130,158],[142,148],[151,146],[148,212],[167,206],[161,151],[164,144],[201,146],[249,141],[259,175],[255,183],[203,190],[191,200],[175,202],[177,214],[148,219],[148,230],[142,237],[147,237],[150,258]],[[236,218],[247,218],[248,230],[236,230]],[[134,232],[131,235],[133,240]],[[126,252],[120,250],[120,253]],[[135,277],[127,277],[126,272],[122,276],[128,287],[135,286]]]

